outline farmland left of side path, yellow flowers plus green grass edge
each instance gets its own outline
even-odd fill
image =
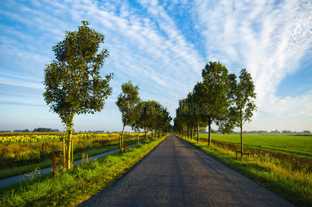
[[[144,133],[140,133],[143,141]],[[74,133],[74,159],[119,148],[119,133]],[[66,133],[0,133],[0,179],[51,166],[53,152],[62,154]],[[125,144],[138,142],[137,133],[126,133]],[[1,205],[0,205],[1,206]]]

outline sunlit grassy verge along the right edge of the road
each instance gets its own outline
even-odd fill
[[[226,166],[253,179],[297,206],[312,206],[312,173],[311,170],[291,169],[275,157],[253,155],[236,158],[236,153],[226,146],[212,144],[210,148],[204,142],[197,143],[182,138],[203,150],[206,154],[221,161]]]

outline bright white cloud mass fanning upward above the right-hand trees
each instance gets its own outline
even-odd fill
[[[255,81],[257,106],[262,110],[264,103],[275,97],[282,79],[299,69],[312,46],[311,1],[199,0],[195,5],[207,58],[222,61],[235,72],[247,68]],[[297,98],[279,101],[293,106],[291,100]]]

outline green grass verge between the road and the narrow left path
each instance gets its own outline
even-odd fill
[[[0,189],[0,206],[76,206],[107,188],[165,139],[127,149],[125,153],[79,164],[60,175],[46,175]]]

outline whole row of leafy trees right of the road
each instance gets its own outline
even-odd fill
[[[196,83],[185,99],[179,100],[174,119],[174,131],[184,136],[194,128],[208,126],[208,146],[211,144],[211,126],[216,124],[223,133],[241,129],[241,155],[243,154],[243,125],[251,121],[255,106],[255,85],[250,73],[244,68],[239,79],[219,62],[207,63],[203,68],[203,81]]]

